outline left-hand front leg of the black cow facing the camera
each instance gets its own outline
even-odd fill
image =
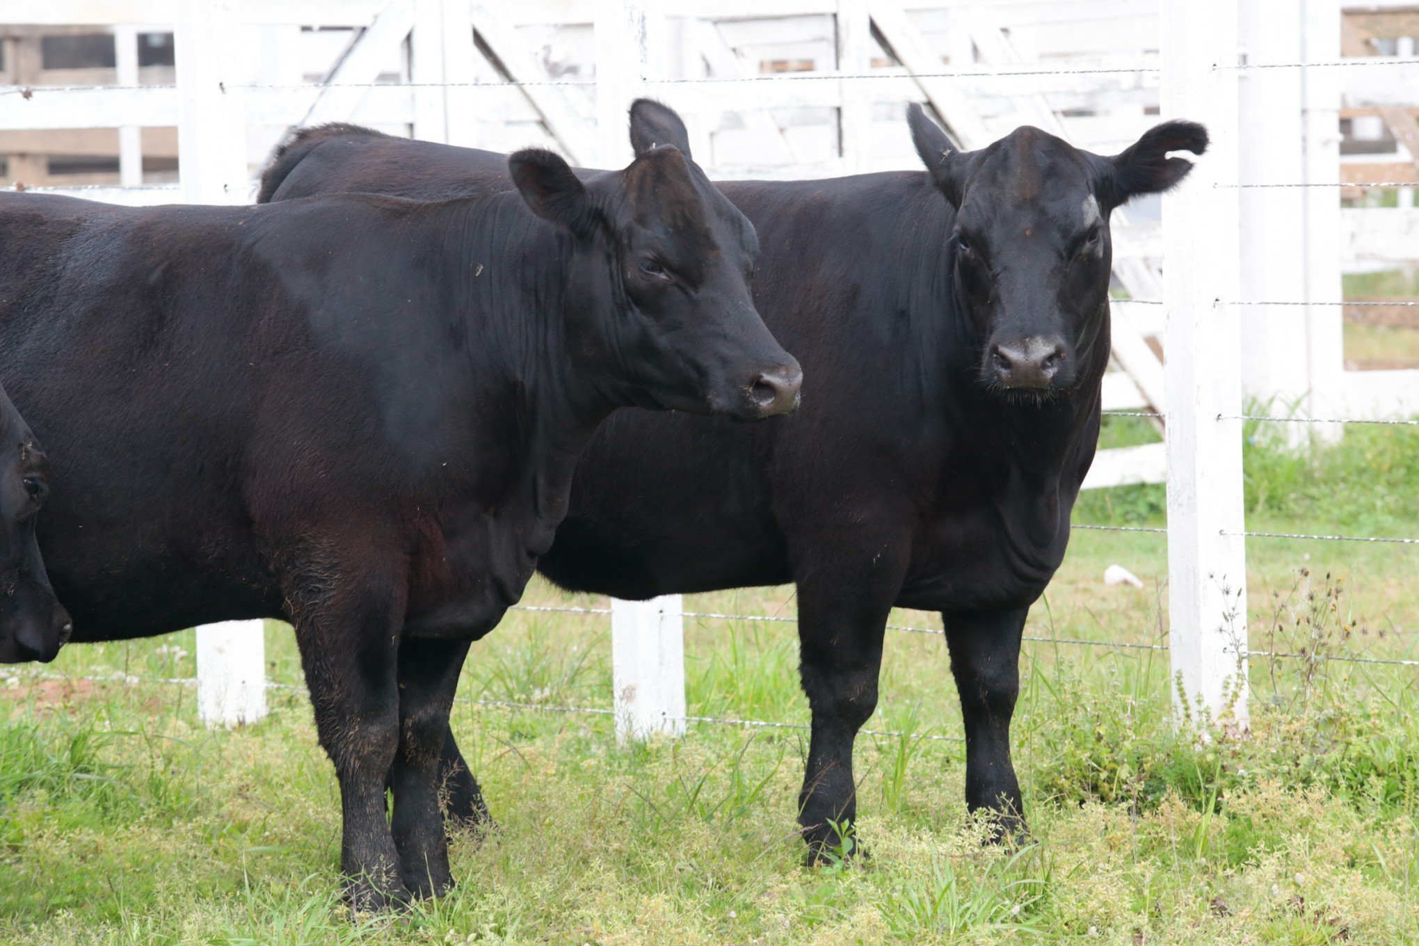
[[[816,864],[856,850],[856,841],[844,844],[857,820],[853,740],[877,709],[883,633],[901,570],[888,555],[853,557],[805,569],[797,587],[800,674],[813,713],[799,824]]]

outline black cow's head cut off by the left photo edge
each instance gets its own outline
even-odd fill
[[[0,664],[51,661],[74,630],[34,540],[48,491],[50,461],[0,390]]]

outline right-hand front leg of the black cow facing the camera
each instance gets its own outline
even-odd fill
[[[999,813],[998,837],[1025,833],[1025,804],[1010,762],[1010,718],[1020,695],[1020,634],[1027,611],[941,616],[966,730],[966,807]]]

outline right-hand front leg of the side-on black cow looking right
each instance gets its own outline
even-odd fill
[[[451,739],[448,711],[467,654],[467,641],[404,640],[399,645],[393,833],[400,875],[416,896],[440,896],[454,884],[438,808],[438,766]]]

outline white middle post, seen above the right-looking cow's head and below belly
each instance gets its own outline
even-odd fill
[[[596,136],[603,167],[630,160],[626,109],[663,75],[664,13],[648,0],[597,0]],[[685,647],[678,594],[612,600],[616,736],[644,739],[685,730]]]

